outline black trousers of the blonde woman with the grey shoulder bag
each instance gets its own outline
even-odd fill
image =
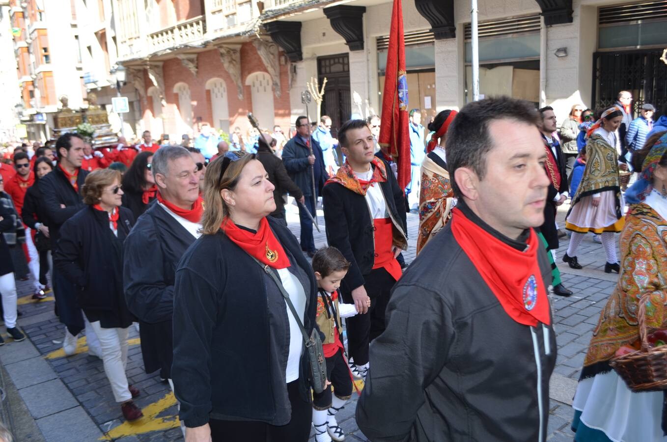
[[[219,421],[211,419],[213,442],[307,442],[310,436],[312,407],[299,395],[299,380],[287,384],[291,404],[291,421],[287,425],[271,425],[256,421]]]

